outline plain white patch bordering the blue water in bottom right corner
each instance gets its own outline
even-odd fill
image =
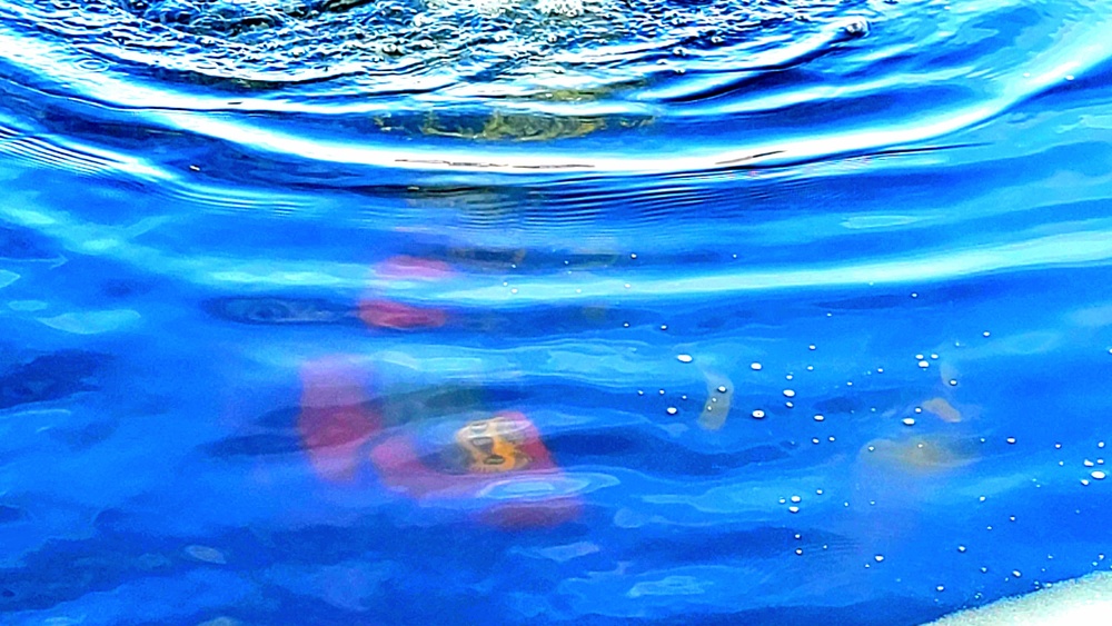
[[[1112,573],[1055,583],[1024,596],[947,615],[929,626],[1108,626],[1112,624]]]

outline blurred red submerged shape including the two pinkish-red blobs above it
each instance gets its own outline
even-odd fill
[[[368,328],[413,331],[476,324],[459,311],[399,301],[385,288],[450,280],[458,275],[448,262],[395,256],[371,272],[377,286],[356,309]],[[420,394],[415,401],[406,395],[373,400],[361,378],[344,357],[302,367],[297,428],[321,477],[354,480],[371,468],[395,493],[426,505],[474,508],[479,521],[502,527],[553,526],[578,516],[582,501],[566,493],[569,483],[524,414],[475,410],[480,405],[466,389],[438,390],[425,401]]]

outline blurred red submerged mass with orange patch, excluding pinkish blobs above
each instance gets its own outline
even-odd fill
[[[338,359],[306,365],[301,382],[298,433],[328,480],[350,481],[369,467],[395,493],[460,505],[499,527],[554,526],[579,514],[582,503],[559,493],[563,473],[520,413],[406,421],[371,401],[360,376]]]

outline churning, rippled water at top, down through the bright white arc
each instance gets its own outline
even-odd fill
[[[508,172],[697,171],[912,146],[1112,57],[1102,4],[488,8],[12,3],[0,50],[12,77],[70,100],[66,135],[86,116],[127,117],[215,141],[201,167],[248,150],[302,168]],[[1020,41],[1039,43],[1005,58]],[[90,59],[106,71],[90,73]],[[692,133],[697,149],[675,139]],[[552,142],[544,153],[526,149],[537,140]]]

